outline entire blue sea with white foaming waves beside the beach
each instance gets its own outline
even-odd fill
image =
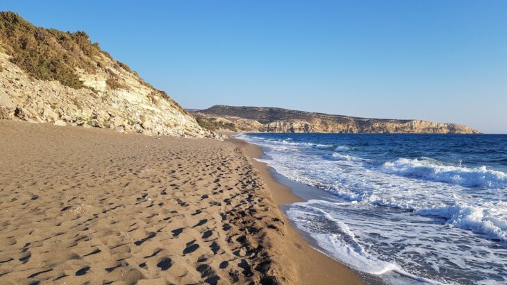
[[[294,182],[306,202],[283,210],[329,257],[390,284],[507,284],[507,135],[238,137]]]

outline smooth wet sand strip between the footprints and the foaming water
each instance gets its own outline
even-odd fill
[[[247,141],[241,139],[229,139],[235,144],[242,146],[244,153],[249,157],[250,163],[260,173],[260,178],[267,184],[269,193],[281,211],[280,207],[292,202],[302,202],[303,199],[295,196],[288,186],[281,184],[269,173],[269,166],[263,162],[258,162],[255,158],[264,155],[263,150]],[[319,284],[363,284],[361,277],[356,271],[339,261],[326,256],[304,239],[290,220],[281,211],[283,222],[288,225],[285,234],[286,250],[285,257],[293,261],[299,275],[299,284],[314,284],[318,280]]]

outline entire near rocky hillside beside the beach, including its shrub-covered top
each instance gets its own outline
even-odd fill
[[[0,119],[213,137],[165,92],[90,42],[0,12]]]

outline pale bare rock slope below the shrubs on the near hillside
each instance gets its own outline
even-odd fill
[[[0,119],[92,126],[145,135],[215,137],[133,71],[118,67],[105,55],[97,58],[99,61],[106,67],[97,68],[92,74],[76,69],[85,87],[73,89],[56,80],[28,76],[10,62],[9,55],[0,53]],[[110,73],[115,74],[121,87],[113,89],[106,84]]]

